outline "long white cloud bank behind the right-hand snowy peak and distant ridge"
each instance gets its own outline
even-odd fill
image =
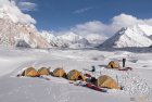
[[[87,35],[101,35],[103,37],[110,37],[114,35],[122,27],[128,27],[134,25],[152,25],[152,18],[137,18],[128,14],[119,14],[110,20],[110,24],[104,24],[101,21],[91,21],[84,24],[75,25],[68,30],[58,31],[56,34],[74,33],[81,36]]]

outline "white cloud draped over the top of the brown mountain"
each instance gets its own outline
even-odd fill
[[[9,16],[14,23],[36,24],[35,18],[20,10],[16,5],[16,1],[0,0],[0,17]]]

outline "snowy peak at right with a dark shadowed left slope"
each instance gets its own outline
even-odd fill
[[[124,27],[114,36],[105,40],[100,47],[149,47],[152,44],[152,26],[135,25],[131,27]]]

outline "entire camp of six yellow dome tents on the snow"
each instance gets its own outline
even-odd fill
[[[121,69],[121,65],[118,62],[111,61],[107,64],[107,68]],[[102,75],[102,76],[93,79],[91,77],[91,75],[81,74],[77,69],[72,69],[66,74],[66,72],[62,67],[58,67],[53,72],[50,72],[50,69],[47,67],[41,67],[38,71],[35,69],[34,67],[28,67],[22,73],[22,76],[27,76],[27,77],[39,77],[41,75],[52,75],[54,77],[63,77],[63,78],[66,78],[68,80],[73,80],[73,81],[81,80],[81,81],[86,81],[86,82],[92,82],[94,86],[101,87],[101,88],[121,89],[121,87],[118,86],[116,80],[107,75]],[[88,81],[88,79],[90,79],[90,81]]]

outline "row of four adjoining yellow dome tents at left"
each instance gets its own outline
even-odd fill
[[[84,81],[86,80],[86,77],[77,69],[72,69],[66,74],[65,71],[60,67],[55,68],[52,73],[47,67],[41,67],[38,71],[35,69],[34,67],[28,67],[22,73],[22,76],[27,76],[27,77],[39,77],[40,75],[65,77],[69,80],[84,80]]]

